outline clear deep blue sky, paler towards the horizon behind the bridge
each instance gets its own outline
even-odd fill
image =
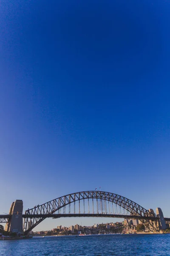
[[[170,0],[1,1],[0,214],[101,186],[170,217],[169,13]]]

